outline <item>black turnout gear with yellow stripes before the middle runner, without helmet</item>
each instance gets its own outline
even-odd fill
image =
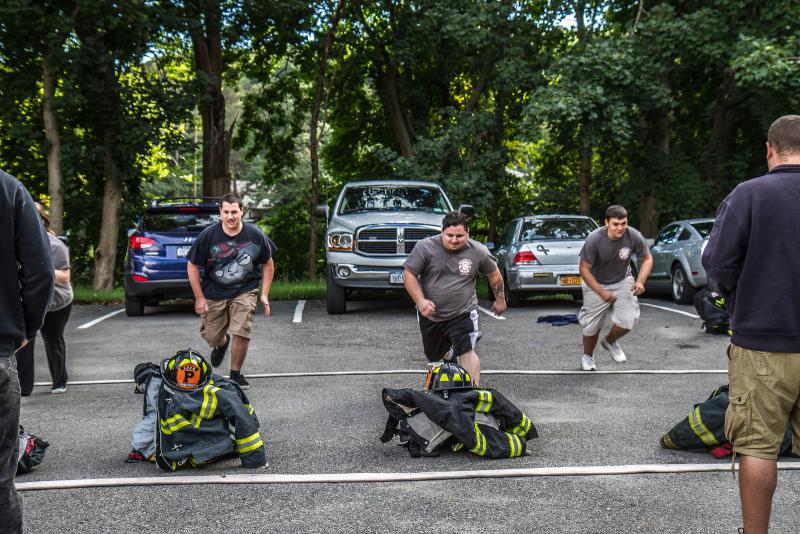
[[[398,435],[413,458],[437,456],[442,447],[485,458],[514,458],[525,454],[527,442],[538,436],[528,416],[495,389],[446,391],[447,398],[441,391],[384,389],[389,418],[381,441]]]

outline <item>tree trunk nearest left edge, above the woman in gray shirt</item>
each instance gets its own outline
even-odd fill
[[[47,189],[50,193],[50,228],[56,235],[64,231],[64,191],[61,188],[61,135],[58,119],[53,111],[56,77],[48,63],[48,54],[42,62],[44,98],[42,118],[47,149]]]

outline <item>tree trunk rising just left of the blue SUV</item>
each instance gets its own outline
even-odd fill
[[[117,259],[119,238],[119,209],[122,205],[122,180],[119,166],[114,159],[113,147],[106,141],[103,154],[106,183],[103,191],[103,214],[100,225],[100,241],[94,250],[94,290],[106,291],[114,288],[114,266]]]

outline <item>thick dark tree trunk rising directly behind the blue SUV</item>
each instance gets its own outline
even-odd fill
[[[199,5],[198,5],[199,4]],[[219,2],[186,2],[197,78],[205,85],[198,110],[203,123],[203,196],[230,191],[230,135],[225,129],[222,94],[222,8]]]

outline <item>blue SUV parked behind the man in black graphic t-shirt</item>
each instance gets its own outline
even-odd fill
[[[129,232],[125,256],[125,313],[142,315],[159,300],[191,298],[186,255],[203,228],[220,220],[218,199],[163,199]]]

